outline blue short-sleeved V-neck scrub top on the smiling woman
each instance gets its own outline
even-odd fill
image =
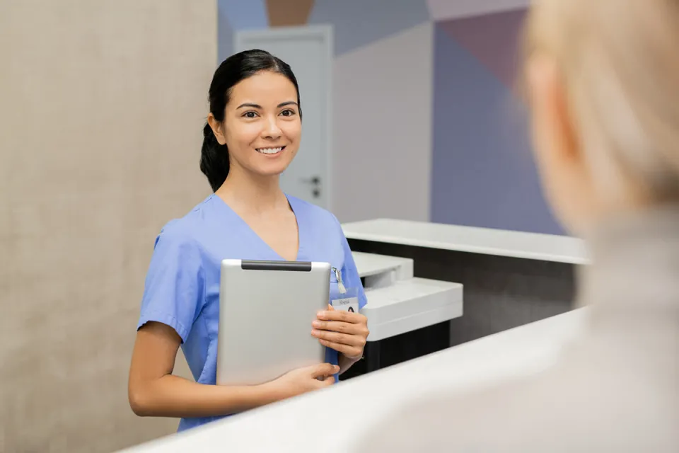
[[[322,208],[295,197],[299,261],[322,261],[342,271],[344,286],[356,288],[359,306],[366,295],[340,222]],[[182,338],[191,372],[201,384],[215,384],[221,260],[283,260],[217,195],[210,195],[181,219],[163,227],[146,275],[137,328],[149,321],[167,324]],[[335,273],[330,294],[337,294]],[[326,360],[337,365],[337,351]],[[336,377],[337,380],[337,377]],[[179,431],[222,417],[182,418]]]

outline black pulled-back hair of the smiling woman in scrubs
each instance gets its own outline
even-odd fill
[[[265,50],[253,49],[231,55],[214,71],[210,84],[209,101],[210,113],[214,115],[215,120],[224,121],[224,110],[233,86],[261,71],[282,74],[292,82],[297,91],[297,104],[301,118],[299,86],[289,64]],[[203,147],[200,150],[200,171],[207,176],[213,191],[224,184],[226,176],[228,176],[228,167],[228,148],[226,144],[217,142],[212,128],[206,123],[203,127]]]

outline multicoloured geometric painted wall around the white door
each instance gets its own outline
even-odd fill
[[[332,115],[335,132],[342,131],[335,137],[333,159],[342,173],[359,159],[359,173],[378,175],[382,182],[361,185],[373,208],[335,202],[341,221],[395,217],[564,234],[542,197],[526,106],[516,90],[527,0],[217,3],[220,61],[231,55],[237,30],[332,24]],[[393,99],[413,92],[419,93],[417,101],[410,100],[416,107],[393,105]],[[357,117],[361,120],[353,121]],[[376,148],[376,142],[390,146]],[[385,159],[405,168],[410,162],[413,170],[385,172]],[[400,197],[402,203],[393,202],[393,190],[381,190],[404,185],[414,189]]]

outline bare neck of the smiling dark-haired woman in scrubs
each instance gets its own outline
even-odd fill
[[[288,204],[279,180],[278,175],[260,176],[232,167],[215,195],[236,210],[267,211]]]

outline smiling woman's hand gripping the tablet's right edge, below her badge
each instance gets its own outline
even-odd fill
[[[318,338],[320,344],[341,352],[350,360],[363,357],[363,349],[368,338],[368,319],[359,313],[338,311],[332,305],[318,313],[313,323],[311,335]]]

